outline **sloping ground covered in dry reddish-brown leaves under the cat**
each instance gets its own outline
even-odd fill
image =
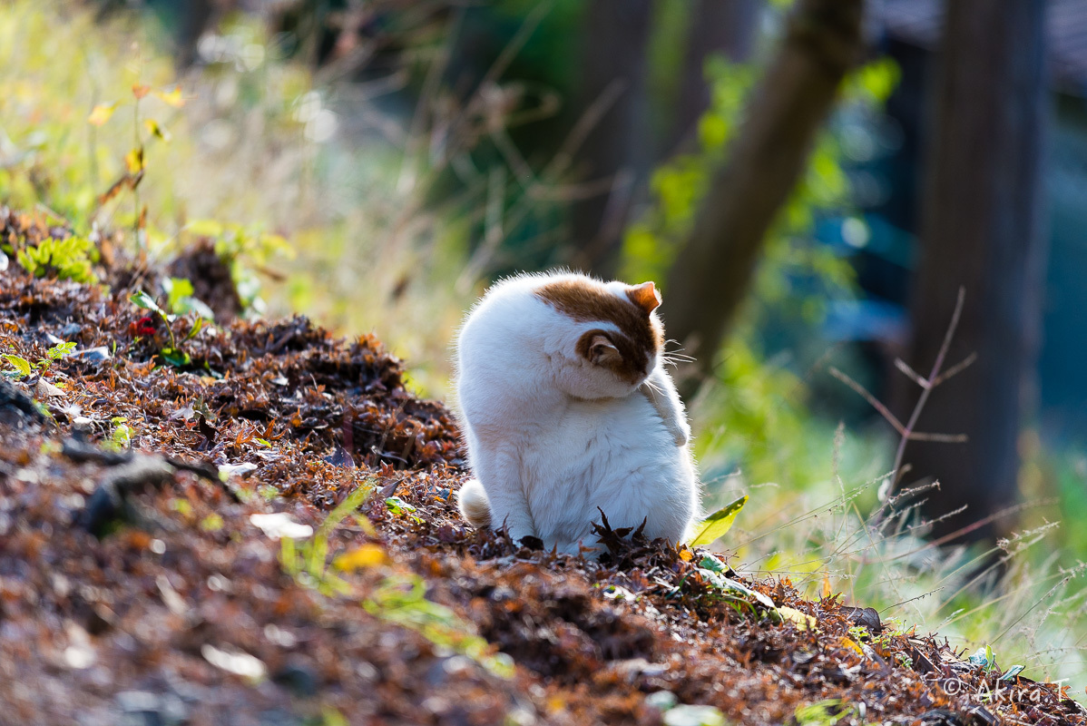
[[[207,246],[173,266],[196,330],[111,249],[102,285],[34,278],[49,224],[0,209],[0,354],[32,366],[0,359],[0,724],[1087,723],[702,550],[475,531],[450,413],[377,340],[228,320]]]

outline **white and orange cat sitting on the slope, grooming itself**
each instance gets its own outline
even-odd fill
[[[699,485],[660,303],[652,283],[572,273],[487,291],[457,343],[468,522],[565,553],[594,549],[600,511],[613,528],[645,521],[651,539],[687,536]]]

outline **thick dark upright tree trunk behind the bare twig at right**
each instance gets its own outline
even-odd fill
[[[947,0],[923,191],[921,260],[907,362],[927,375],[965,287],[948,363],[977,363],[932,393],[917,429],[966,443],[911,442],[910,479],[935,477],[923,508],[954,531],[1015,500],[1017,439],[1033,391],[1046,235],[1040,163],[1046,116],[1044,0]],[[903,381],[899,409],[920,390]],[[987,525],[971,538],[991,537]]]

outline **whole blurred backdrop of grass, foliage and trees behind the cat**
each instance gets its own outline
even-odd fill
[[[737,566],[1082,687],[1082,0],[12,0],[0,204],[445,399],[489,281],[653,279]]]

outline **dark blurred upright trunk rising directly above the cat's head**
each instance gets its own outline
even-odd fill
[[[578,109],[603,114],[582,145],[587,182],[608,179],[608,191],[573,205],[575,263],[613,276],[635,190],[651,163],[647,122],[646,55],[652,0],[591,0],[586,14]]]

